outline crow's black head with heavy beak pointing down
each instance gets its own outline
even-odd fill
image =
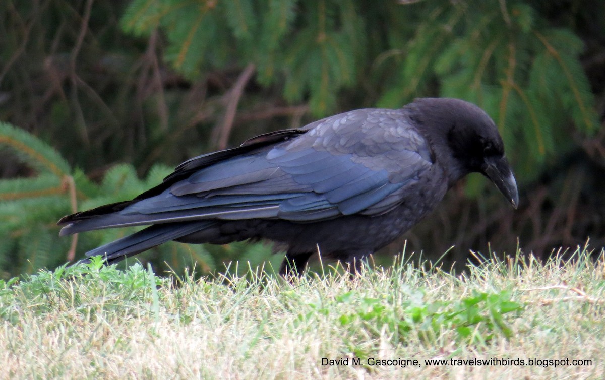
[[[416,99],[409,107],[450,186],[466,174],[480,172],[517,208],[517,182],[502,137],[488,114],[473,103],[450,98]]]

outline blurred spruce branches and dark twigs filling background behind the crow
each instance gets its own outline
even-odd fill
[[[422,96],[487,111],[521,203],[471,175],[384,257],[405,241],[430,258],[454,246],[445,261],[458,263],[517,244],[538,257],[589,237],[602,247],[604,31],[600,0],[3,0],[0,278],[132,232],[59,238],[55,223],[189,157]],[[169,243],[140,260],[208,272],[270,252]]]

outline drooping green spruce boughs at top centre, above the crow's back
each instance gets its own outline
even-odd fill
[[[355,83],[365,46],[359,7],[335,0],[135,0],[122,28],[136,35],[165,31],[166,60],[189,78],[252,62],[261,83],[283,76],[284,97],[300,102],[308,92],[313,113],[322,116],[334,110],[339,88]]]

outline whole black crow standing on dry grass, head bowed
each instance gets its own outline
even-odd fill
[[[401,110],[349,111],[195,157],[132,200],[58,224],[60,235],[150,225],[87,252],[108,264],[170,240],[267,238],[286,246],[282,275],[299,273],[318,249],[355,272],[471,172],[517,207],[517,184],[489,116],[459,99],[416,99]]]

